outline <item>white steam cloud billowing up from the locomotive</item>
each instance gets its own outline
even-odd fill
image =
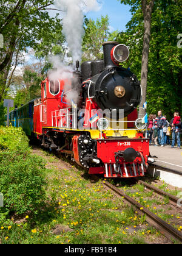
[[[99,10],[97,0],[55,0],[54,3],[59,9],[64,11],[63,33],[66,36],[67,44],[72,53],[73,65],[76,60],[81,60],[82,37],[84,34],[83,18],[84,13],[91,10]],[[70,79],[73,77],[73,68],[61,63],[59,56],[50,57],[49,62],[53,64],[53,69],[49,71],[50,80],[64,80],[64,91],[67,100],[76,104],[79,101],[80,88],[72,88]]]

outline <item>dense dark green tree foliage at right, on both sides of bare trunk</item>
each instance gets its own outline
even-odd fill
[[[136,76],[141,76],[144,20],[140,3],[132,5],[132,19],[126,32],[117,40],[130,48],[130,66]],[[177,35],[181,32],[181,4],[178,0],[156,0],[153,5],[147,77],[147,112],[163,110],[167,118],[172,112],[182,112],[181,57],[182,49],[177,47]]]

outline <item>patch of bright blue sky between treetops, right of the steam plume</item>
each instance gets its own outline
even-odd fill
[[[130,6],[121,4],[118,0],[102,0],[103,4],[99,11],[87,13],[87,18],[96,20],[101,15],[109,16],[109,23],[112,30],[125,31],[126,24],[132,18]]]

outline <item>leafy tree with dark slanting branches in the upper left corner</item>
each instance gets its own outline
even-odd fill
[[[42,35],[60,26],[58,16],[50,18],[47,8],[53,0],[2,0],[0,3],[0,34],[4,48],[0,52],[0,102],[11,83],[12,71],[18,63],[19,52],[27,47],[38,47]],[[61,35],[61,34],[60,34]],[[7,82],[9,78],[9,82]]]

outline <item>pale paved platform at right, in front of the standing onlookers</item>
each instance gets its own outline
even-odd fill
[[[182,173],[182,149],[175,147],[174,149],[170,146],[150,146],[150,155],[156,156],[155,163],[157,165],[181,171]]]

